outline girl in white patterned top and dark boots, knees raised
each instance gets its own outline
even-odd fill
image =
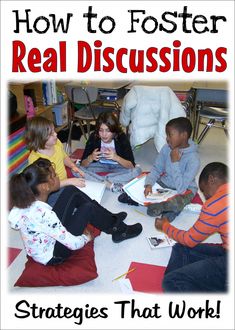
[[[111,234],[115,243],[141,233],[141,224],[128,226],[123,222],[125,212],[109,212],[74,186],[64,188],[52,209],[46,201],[59,187],[52,163],[44,158],[10,179],[13,208],[8,219],[12,228],[21,231],[26,252],[36,262],[62,263],[72,250],[82,248],[93,238],[86,229],[88,223]]]

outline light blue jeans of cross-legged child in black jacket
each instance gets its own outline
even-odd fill
[[[93,162],[88,167],[79,167],[85,173],[85,179],[91,181],[104,182],[109,181],[112,183],[126,184],[130,180],[134,179],[141,174],[142,170],[139,166],[134,168],[125,168],[119,164],[101,164],[99,162]],[[100,176],[99,172],[107,172],[106,175]],[[72,172],[74,176],[80,177],[79,173]]]

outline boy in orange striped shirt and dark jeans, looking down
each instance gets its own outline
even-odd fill
[[[165,292],[224,292],[227,290],[228,250],[228,168],[223,163],[208,164],[199,177],[205,196],[200,216],[187,231],[172,226],[168,219],[156,218],[162,230],[175,244],[165,272]],[[202,244],[219,233],[222,244]]]

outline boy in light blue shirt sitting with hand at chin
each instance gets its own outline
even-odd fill
[[[152,217],[162,215],[173,221],[197,192],[195,177],[200,160],[197,145],[190,139],[191,133],[192,125],[185,117],[171,119],[166,124],[167,144],[162,147],[146,177],[144,195],[152,193],[156,182],[163,188],[175,189],[177,195],[168,201],[149,205],[147,214]],[[118,200],[136,205],[125,193]]]

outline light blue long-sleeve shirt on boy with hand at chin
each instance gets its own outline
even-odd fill
[[[200,159],[197,145],[190,139],[189,147],[180,149],[182,156],[179,161],[171,161],[171,148],[165,144],[155,163],[147,175],[145,184],[153,186],[156,181],[161,180],[167,187],[176,189],[179,194],[187,189],[197,192],[195,177],[200,168]]]

